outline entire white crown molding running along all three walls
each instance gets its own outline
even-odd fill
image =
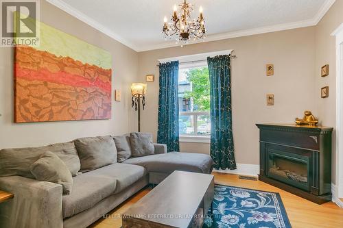
[[[132,44],[128,40],[122,38],[118,34],[115,34],[113,31],[108,29],[107,27],[104,27],[102,24],[95,21],[93,18],[86,16],[86,14],[83,14],[82,12],[76,10],[75,8],[72,8],[67,3],[64,3],[64,1],[61,0],[47,0],[47,2],[51,3],[52,5],[55,5],[56,7],[60,8],[61,10],[64,10],[68,14],[71,14],[72,16],[75,16],[75,18],[78,18],[80,21],[83,21],[84,23],[90,25],[91,27],[94,27],[95,29],[101,31],[102,33],[106,34],[107,36],[110,36],[110,38],[113,38],[117,40],[118,42],[121,42],[123,45],[126,45],[127,47],[130,47],[130,49],[133,49],[134,51],[141,52],[141,51],[151,51],[155,49],[164,49],[168,47],[180,47],[180,44],[176,44],[174,41],[170,42],[164,42],[157,45],[147,45],[144,47],[137,47],[137,45]],[[242,36],[252,36],[257,34],[265,34],[268,32],[274,32],[274,31],[283,31],[287,29],[297,29],[300,27],[309,27],[317,25],[322,17],[329,11],[331,6],[335,3],[335,0],[327,0],[324,2],[318,13],[314,16],[314,18],[311,18],[309,20],[305,21],[297,21],[293,23],[283,23],[279,25],[272,25],[267,27],[259,27],[255,29],[244,29],[239,31],[230,31],[222,34],[213,34],[206,37],[205,40],[196,40],[192,41],[191,43],[187,45],[193,45],[200,42],[211,42],[215,40],[224,40],[228,38],[238,38]]]

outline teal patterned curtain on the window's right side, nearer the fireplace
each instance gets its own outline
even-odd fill
[[[231,114],[230,57],[207,58],[211,95],[211,157],[215,169],[236,169]]]

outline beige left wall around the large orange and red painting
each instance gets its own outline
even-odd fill
[[[40,19],[112,53],[113,94],[122,91],[122,101],[113,99],[110,120],[55,123],[13,123],[13,50],[0,48],[0,149],[39,146],[83,136],[121,134],[135,129],[137,117],[130,107],[130,84],[137,81],[138,53],[109,38],[55,6],[40,1]],[[134,123],[130,121],[134,120]]]

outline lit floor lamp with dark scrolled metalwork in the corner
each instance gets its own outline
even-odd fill
[[[131,107],[134,106],[134,110],[136,111],[138,110],[138,132],[141,132],[141,102],[142,102],[143,110],[144,110],[146,90],[147,90],[147,84],[143,84],[143,83],[131,84],[131,94],[132,94]]]

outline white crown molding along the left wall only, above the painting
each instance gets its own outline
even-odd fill
[[[86,14],[80,12],[79,10],[76,10],[75,8],[68,5],[67,3],[64,3],[64,1],[61,1],[61,0],[46,0],[46,1],[51,3],[52,5],[55,5],[57,8],[60,8],[64,12],[67,12],[71,16],[78,18],[80,21],[86,23],[87,25],[90,25],[91,27],[101,31],[103,34],[106,34],[110,38],[113,38],[114,40],[117,40],[121,44],[126,45],[127,47],[130,47],[130,49],[137,51],[137,47],[133,45],[131,42],[128,42],[128,40],[122,38],[118,34],[115,34],[113,31],[111,31],[110,29],[102,25],[101,23],[95,21],[93,18],[87,16]]]

